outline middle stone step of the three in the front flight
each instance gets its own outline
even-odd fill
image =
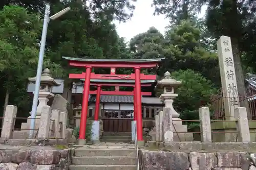
[[[72,157],[75,165],[135,165],[135,156],[81,156]]]

